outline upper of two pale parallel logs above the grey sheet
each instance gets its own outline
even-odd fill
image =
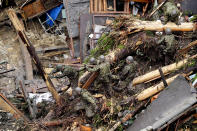
[[[194,59],[196,57],[197,57],[197,55],[194,55],[194,56],[190,57],[190,59]],[[175,70],[180,69],[185,64],[187,64],[188,61],[189,61],[189,59],[184,59],[182,61],[179,61],[178,63],[173,63],[171,65],[164,66],[161,68],[161,70],[163,71],[164,75],[167,75]],[[160,77],[161,76],[160,76],[159,70],[154,70],[149,73],[146,73],[145,75],[134,78],[132,81],[132,84],[133,84],[133,86],[135,86],[140,83],[153,81],[153,80],[158,79]]]

